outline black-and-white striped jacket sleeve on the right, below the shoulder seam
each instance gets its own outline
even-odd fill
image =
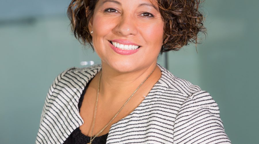
[[[198,91],[184,101],[174,122],[174,143],[231,143],[209,93]]]

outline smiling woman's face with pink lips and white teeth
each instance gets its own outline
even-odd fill
[[[150,0],[97,2],[89,31],[93,31],[94,49],[102,64],[119,72],[130,72],[157,62],[164,22],[157,3],[153,4]]]

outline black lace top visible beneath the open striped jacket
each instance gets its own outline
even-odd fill
[[[79,112],[80,112],[80,107],[82,106],[85,91],[90,82],[87,83],[87,85],[85,86],[85,89],[83,90],[83,93],[81,94],[81,97],[79,98],[79,103],[78,103]],[[94,140],[92,141],[92,144],[105,144],[107,136],[108,136],[108,133],[104,134],[100,137],[95,137]],[[69,135],[69,137],[66,139],[64,144],[74,144],[74,143],[75,144],[87,144],[89,142],[90,142],[90,137],[82,134],[81,130],[78,127]]]

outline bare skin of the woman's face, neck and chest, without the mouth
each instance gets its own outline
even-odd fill
[[[155,4],[155,3],[154,3]],[[163,20],[149,0],[100,0],[89,24],[93,45],[102,60],[102,78],[93,135],[119,111],[157,63],[163,44]],[[150,13],[150,14],[149,14]],[[127,30],[129,29],[129,31]],[[109,41],[128,40],[141,46],[131,55],[116,53]],[[100,72],[86,90],[80,115],[83,134],[91,136]],[[112,124],[131,113],[161,77],[159,67],[139,88],[113,122],[98,136],[108,133]]]

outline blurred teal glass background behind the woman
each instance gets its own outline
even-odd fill
[[[54,78],[82,61],[100,63],[70,32],[69,0],[0,0],[0,143],[35,143]],[[168,52],[168,69],[208,91],[235,144],[259,143],[259,1],[207,0],[207,38]],[[158,63],[165,65],[165,56]]]

